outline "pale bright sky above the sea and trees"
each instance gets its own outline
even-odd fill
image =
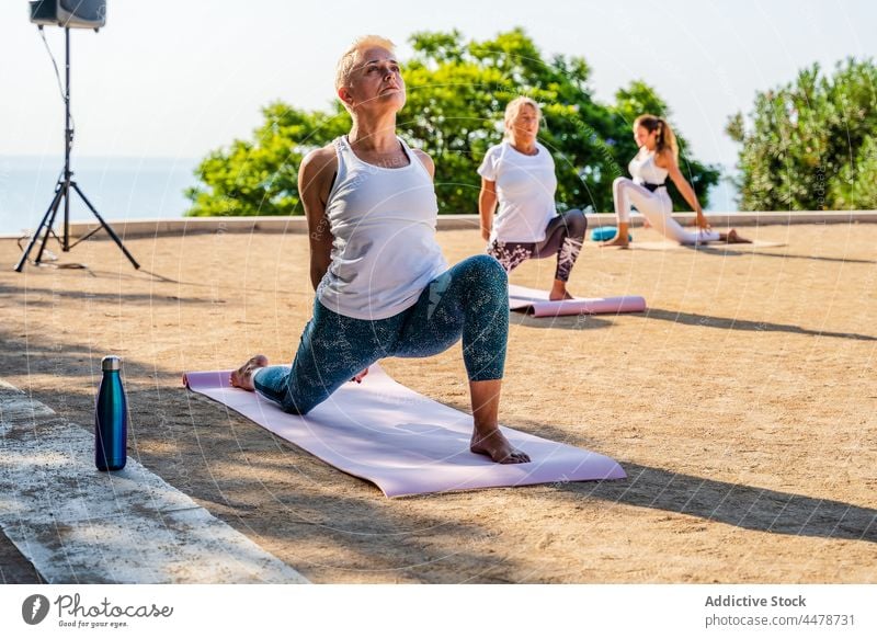
[[[877,58],[873,0],[109,0],[99,33],[71,31],[75,153],[198,158],[248,138],[260,107],[324,109],[358,35],[485,39],[522,26],[547,57],[582,56],[599,101],[640,79],[701,160],[733,164],[728,116],[813,62]],[[64,75],[64,31],[45,29]],[[429,150],[429,149],[425,149]],[[0,0],[0,156],[62,157],[64,103],[26,0]]]

